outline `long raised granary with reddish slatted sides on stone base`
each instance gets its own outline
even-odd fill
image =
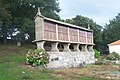
[[[44,17],[38,9],[35,33],[37,48],[50,55],[48,68],[78,67],[95,62],[90,29]]]

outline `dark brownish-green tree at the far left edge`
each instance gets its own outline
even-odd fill
[[[0,0],[0,39],[3,40],[4,43],[6,43],[7,27],[10,24],[11,18],[8,8],[9,5],[4,4],[3,1]]]

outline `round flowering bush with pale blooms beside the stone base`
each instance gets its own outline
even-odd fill
[[[44,50],[29,50],[26,54],[26,62],[32,66],[46,67],[46,64],[49,63],[49,54]]]

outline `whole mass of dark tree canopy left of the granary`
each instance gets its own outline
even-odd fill
[[[30,36],[29,40],[34,40],[34,16],[38,7],[44,16],[60,20],[58,0],[0,0],[1,40],[6,42],[9,36],[18,40],[17,35],[12,35],[18,31],[23,42],[25,34]]]

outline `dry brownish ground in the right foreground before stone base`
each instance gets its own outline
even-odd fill
[[[113,72],[120,72],[119,65],[89,65],[82,68],[58,69],[56,76],[63,76],[66,79],[73,77],[96,77],[101,79],[120,80],[120,75],[113,75]]]

